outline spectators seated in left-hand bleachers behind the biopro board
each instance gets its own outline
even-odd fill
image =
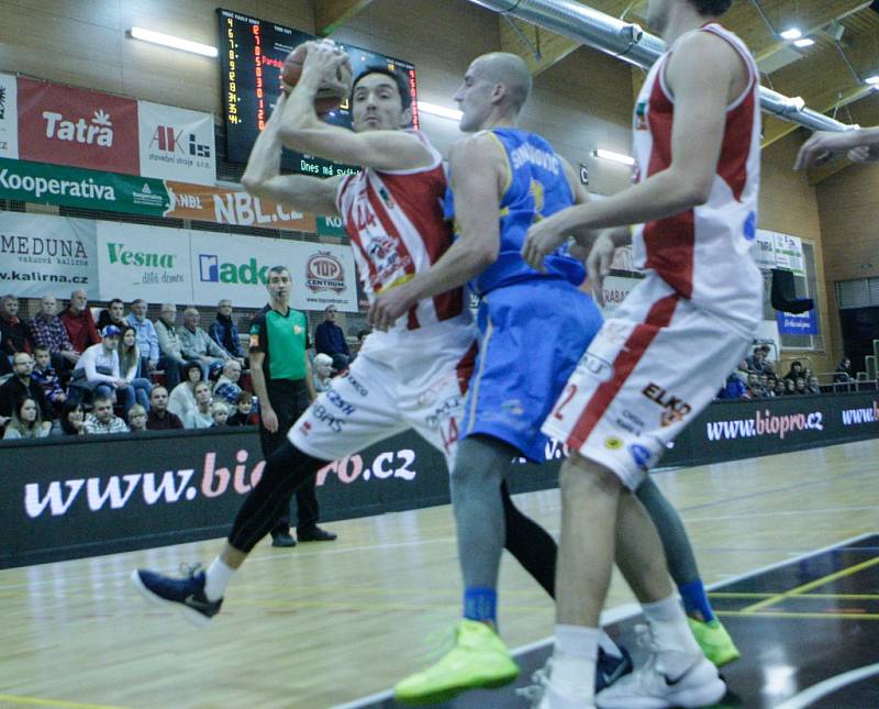
[[[148,303],[114,299],[96,321],[84,291],[57,312],[44,296],[38,312],[19,317],[15,296],[0,299],[0,431],[3,439],[209,429],[258,423],[251,388],[246,340],[221,300],[207,330],[189,307],[177,323],[174,303],[155,321]],[[330,312],[332,310],[332,312]],[[324,348],[314,355],[316,391],[351,359],[347,342],[327,308]],[[344,350],[337,342],[341,342]],[[327,336],[329,335],[329,336]],[[246,330],[245,330],[246,337]],[[337,365],[337,366],[336,366]]]

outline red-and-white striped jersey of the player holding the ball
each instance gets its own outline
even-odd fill
[[[429,166],[409,170],[364,168],[343,179],[336,192],[336,207],[370,302],[382,291],[427,270],[452,245],[452,225],[443,217],[443,156],[423,133],[408,132],[430,151],[433,160]],[[393,330],[418,330],[454,318],[471,320],[463,287],[420,301]]]

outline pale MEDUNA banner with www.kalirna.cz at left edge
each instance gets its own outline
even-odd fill
[[[94,222],[0,212],[0,292],[19,298],[98,298]]]

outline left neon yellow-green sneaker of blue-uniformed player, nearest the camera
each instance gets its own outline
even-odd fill
[[[407,705],[448,701],[467,689],[501,687],[519,676],[519,665],[491,628],[461,620],[455,647],[435,665],[400,682],[393,694]]]

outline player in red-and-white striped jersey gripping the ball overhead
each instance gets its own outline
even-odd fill
[[[364,290],[370,299],[430,267],[452,244],[444,218],[443,160],[411,122],[408,85],[386,66],[354,81],[354,131],[314,111],[318,88],[345,56],[332,43],[310,44],[299,84],[279,99],[260,133],[242,181],[254,195],[296,209],[342,218]],[[357,175],[321,179],[281,175],[281,144],[364,166]],[[286,283],[269,289],[287,289]],[[132,580],[154,601],[170,603],[204,624],[220,611],[234,572],[244,563],[298,486],[331,461],[412,428],[447,459],[454,455],[464,396],[476,354],[476,332],[461,288],[414,303],[388,332],[368,335],[351,369],[333,379],[269,455],[258,485],[240,509],[229,540],[207,572],[171,578],[137,569]],[[270,346],[270,343],[269,343]],[[265,425],[278,428],[274,417]],[[272,428],[274,426],[274,428]],[[552,594],[555,542],[501,490],[507,549]],[[612,646],[612,641],[607,639]]]

